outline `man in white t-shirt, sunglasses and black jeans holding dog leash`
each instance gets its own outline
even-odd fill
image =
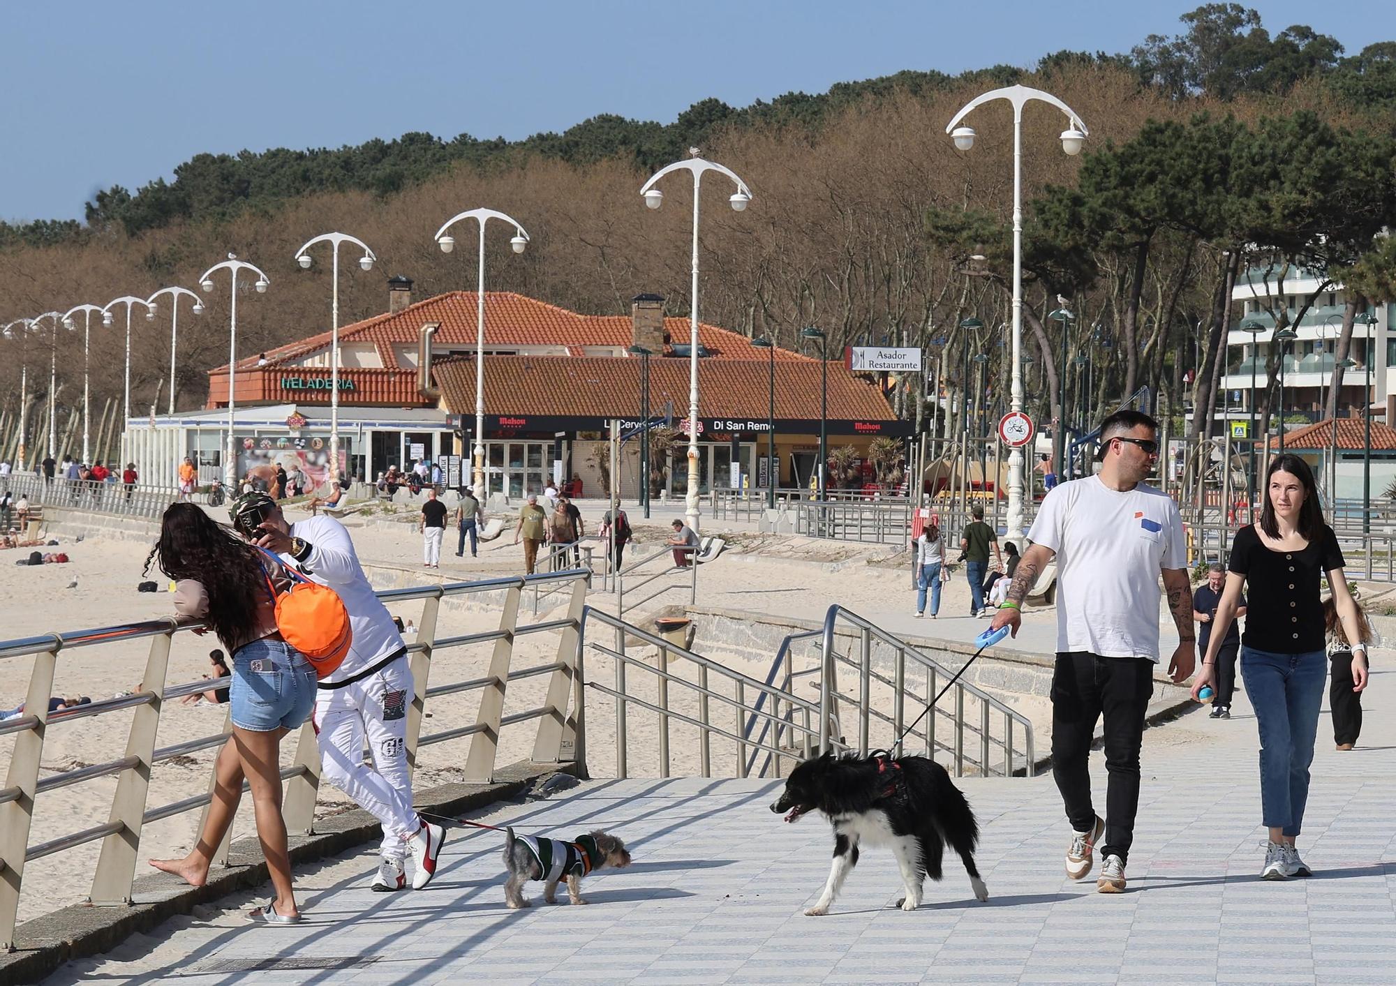
[[[1178,627],[1168,675],[1182,682],[1196,658],[1192,595],[1178,507],[1143,479],[1159,458],[1159,425],[1120,411],[1100,426],[1100,472],[1047,493],[993,628],[1018,634],[1023,598],[1057,559],[1057,668],[1053,675],[1053,777],[1072,841],[1067,876],[1081,880],[1100,848],[1096,888],[1125,888],[1125,862],[1139,807],[1139,747],[1159,662],[1159,575]],[[1090,800],[1090,743],[1104,715],[1106,820]]]

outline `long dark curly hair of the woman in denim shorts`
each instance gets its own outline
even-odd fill
[[[208,594],[208,623],[232,649],[257,619],[268,592],[257,549],[239,539],[193,503],[172,503],[161,518],[161,539],[145,559],[142,574],[159,560],[170,578],[193,578]]]

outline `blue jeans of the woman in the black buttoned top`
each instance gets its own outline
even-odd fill
[[[1323,651],[1269,654],[1242,645],[1241,679],[1261,728],[1262,824],[1298,835],[1328,659]]]

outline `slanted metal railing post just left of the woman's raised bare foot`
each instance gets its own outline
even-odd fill
[[[110,906],[131,902],[131,881],[135,880],[135,853],[141,846],[141,825],[145,823],[145,796],[151,788],[151,758],[155,756],[155,736],[161,726],[165,675],[170,661],[173,628],[151,638],[151,652],[145,659],[141,691],[155,697],[131,716],[131,732],[126,739],[126,756],[135,757],[135,767],[121,771],[112,797],[110,823],[121,823],[121,830],[102,839],[96,874],[92,877],[92,904]],[[47,700],[45,700],[47,701]],[[28,705],[25,707],[28,708]]]

